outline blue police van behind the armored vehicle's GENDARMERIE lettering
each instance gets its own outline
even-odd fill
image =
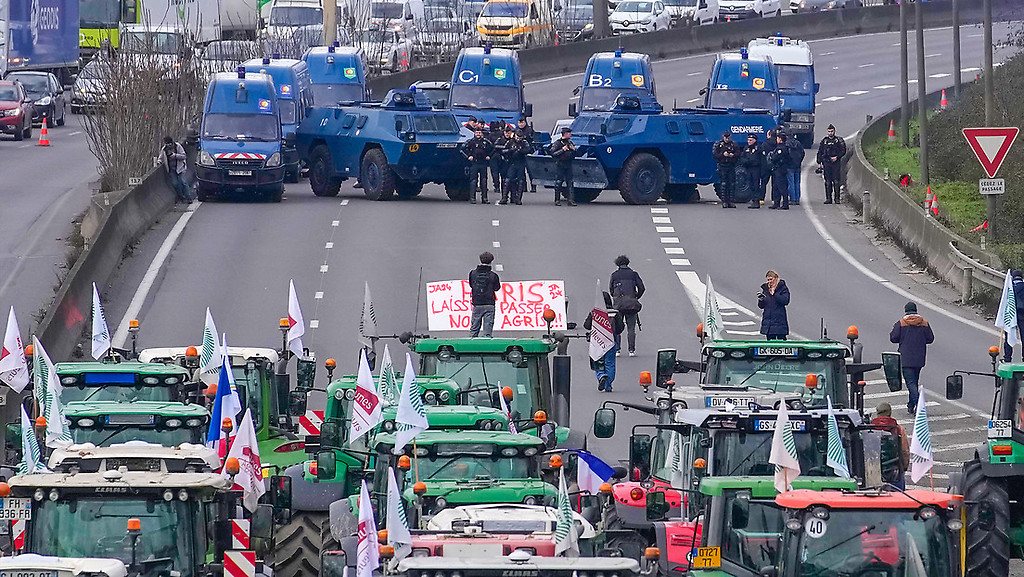
[[[708,109],[767,111],[776,124],[788,120],[771,58],[752,56],[746,48],[719,54],[700,93]]]

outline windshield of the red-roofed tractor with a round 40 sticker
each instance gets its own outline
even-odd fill
[[[958,533],[946,528],[941,514],[933,509],[930,512],[922,516],[920,510],[834,508],[827,519],[821,519],[808,511],[798,537],[796,570],[783,574],[952,575],[950,541]]]

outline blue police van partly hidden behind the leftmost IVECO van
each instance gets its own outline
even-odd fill
[[[273,81],[278,92],[281,132],[288,140],[285,145],[285,180],[298,182],[299,155],[291,141],[295,138],[295,129],[305,118],[306,109],[313,106],[309,67],[302,60],[282,58],[278,54],[270,58],[253,58],[244,66],[247,70],[265,72]]]

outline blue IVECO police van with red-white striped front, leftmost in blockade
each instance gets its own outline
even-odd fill
[[[216,74],[206,91],[199,135],[199,200],[239,193],[281,202],[285,193],[281,120],[265,74]]]

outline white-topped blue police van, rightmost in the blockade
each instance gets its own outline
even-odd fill
[[[778,34],[755,38],[746,48],[752,57],[768,56],[775,65],[781,105],[793,111],[785,125],[806,148],[814,146],[814,96],[820,85],[814,81],[814,56],[803,40]]]

